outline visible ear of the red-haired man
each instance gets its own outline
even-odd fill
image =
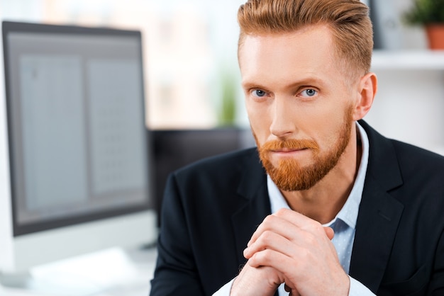
[[[358,85],[358,95],[353,112],[353,120],[362,119],[372,108],[374,96],[377,92],[377,76],[374,73],[367,73],[362,76]]]

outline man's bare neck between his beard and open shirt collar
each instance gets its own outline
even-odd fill
[[[296,212],[326,224],[334,219],[348,199],[360,166],[362,147],[353,127],[348,146],[338,164],[309,190],[282,191],[287,203]]]

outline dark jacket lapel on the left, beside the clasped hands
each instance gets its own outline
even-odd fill
[[[239,264],[246,261],[243,257],[243,250],[247,247],[252,233],[271,213],[266,174],[257,154],[241,165],[247,169],[238,187],[238,211],[231,217]]]

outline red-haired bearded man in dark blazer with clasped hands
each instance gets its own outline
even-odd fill
[[[444,295],[444,157],[362,121],[367,7],[249,0],[238,21],[257,149],[170,176],[151,295]]]

